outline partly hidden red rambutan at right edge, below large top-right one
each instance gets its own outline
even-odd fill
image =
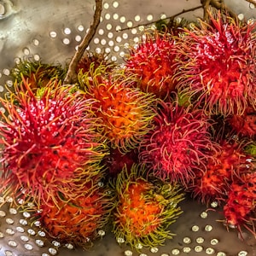
[[[237,135],[256,138],[256,108],[247,106],[244,113],[233,114],[227,120]]]

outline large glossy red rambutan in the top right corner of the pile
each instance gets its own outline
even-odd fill
[[[210,24],[184,30],[177,46],[177,90],[201,102],[209,114],[242,114],[256,107],[255,25],[218,13]]]

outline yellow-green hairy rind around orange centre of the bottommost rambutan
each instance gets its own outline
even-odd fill
[[[156,225],[154,230],[149,233],[143,234],[142,227],[134,224],[133,229],[137,229],[140,233],[140,236],[138,236],[138,234],[131,232],[132,224],[129,227],[130,224],[127,222],[131,218],[128,209],[120,208],[120,206],[123,201],[129,202],[131,184],[142,182],[147,184],[148,189],[141,194],[141,198],[145,203],[138,205],[138,209],[143,207],[145,216],[147,216],[147,207],[152,206],[151,204],[153,203],[154,206],[159,205],[160,212],[155,214],[154,221],[151,220],[148,223],[151,227],[153,224]],[[172,239],[172,236],[175,236],[169,230],[169,226],[182,213],[181,208],[177,205],[180,201],[183,201],[183,192],[176,183],[163,183],[159,179],[148,175],[146,166],[134,164],[131,167],[131,172],[128,172],[126,167],[123,168],[114,182],[114,187],[117,194],[117,206],[113,212],[113,234],[117,241],[120,238],[124,239],[125,244],[139,251],[139,244],[143,247],[157,247],[164,245],[166,239]],[[139,204],[139,201],[134,201],[133,203]],[[121,216],[125,217],[126,223],[121,222]]]

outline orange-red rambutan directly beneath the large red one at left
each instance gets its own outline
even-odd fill
[[[80,191],[67,188],[65,195],[56,191],[56,201],[49,198],[40,206],[37,219],[49,238],[57,239],[62,245],[71,243],[85,249],[93,246],[114,207],[113,191],[98,183],[101,182],[91,180]]]

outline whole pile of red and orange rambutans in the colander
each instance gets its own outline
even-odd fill
[[[255,235],[255,41],[253,23],[218,13],[145,32],[121,65],[85,52],[76,84],[20,60],[1,99],[1,192],[79,247],[106,225],[163,245],[187,195]]]

